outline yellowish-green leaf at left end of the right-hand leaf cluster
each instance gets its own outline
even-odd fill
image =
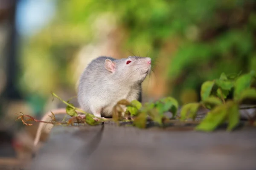
[[[195,119],[199,106],[200,106],[200,103],[189,103],[184,105],[181,108],[180,119],[181,120],[187,119],[188,114],[189,114],[188,118]]]

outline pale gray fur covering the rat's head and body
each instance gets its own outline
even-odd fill
[[[108,71],[105,60],[115,63],[113,73]],[[126,64],[130,60],[131,63]],[[148,62],[148,63],[147,63]],[[113,106],[121,99],[141,101],[141,84],[151,70],[149,57],[114,59],[98,57],[81,74],[78,102],[87,113],[97,117],[111,117]]]

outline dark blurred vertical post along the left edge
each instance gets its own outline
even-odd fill
[[[16,7],[18,0],[0,0],[0,26],[3,35],[8,35],[6,42],[0,44],[3,48],[0,56],[0,66],[6,74],[6,83],[3,91],[0,91],[0,123],[5,116],[5,106],[13,100],[21,99],[20,93],[15,87],[17,73],[19,73],[17,54],[17,30],[15,23]],[[0,77],[3,78],[3,77]],[[1,81],[1,80],[0,80]],[[3,81],[3,80],[2,80]],[[4,121],[4,120],[3,120]],[[0,157],[13,157],[15,150],[12,147],[13,130],[0,124]]]

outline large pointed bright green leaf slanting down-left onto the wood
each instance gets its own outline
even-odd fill
[[[207,113],[207,116],[196,127],[196,130],[212,131],[215,130],[227,118],[227,105],[219,105],[212,111]]]

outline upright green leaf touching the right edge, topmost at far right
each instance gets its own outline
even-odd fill
[[[249,74],[244,74],[235,82],[235,90],[234,90],[234,99],[238,100],[241,98],[241,92],[245,89],[249,88],[252,82],[253,77],[255,76],[255,72],[250,72]]]

